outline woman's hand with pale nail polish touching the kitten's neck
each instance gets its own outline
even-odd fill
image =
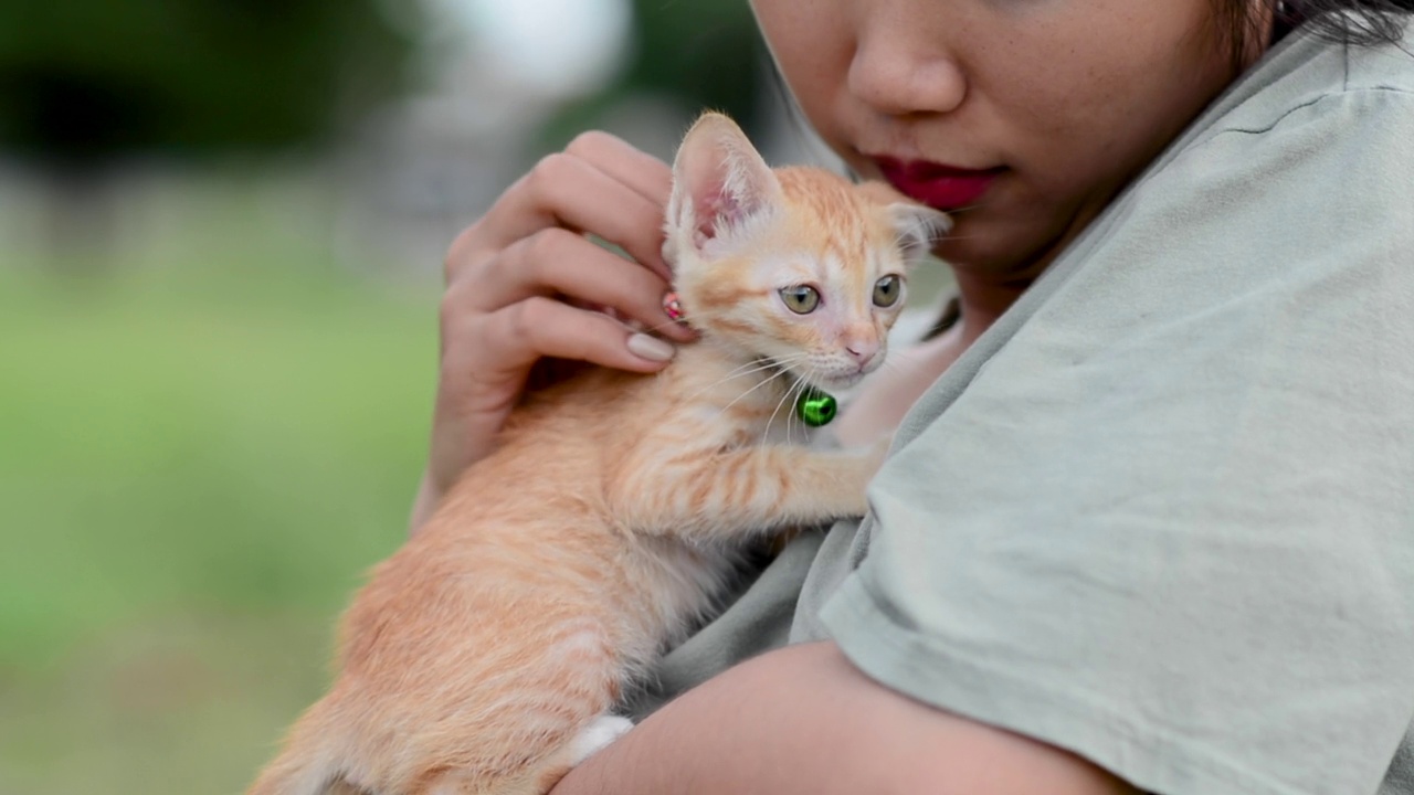
[[[662,308],[667,164],[607,133],[585,133],[512,184],[447,255],[441,365],[416,530],[457,477],[491,451],[526,382],[592,362],[655,372],[691,332]],[[587,235],[618,245],[628,260]],[[556,362],[554,359],[560,359]]]

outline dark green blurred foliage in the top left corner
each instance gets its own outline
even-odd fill
[[[396,91],[413,42],[366,1],[0,6],[0,144],[48,166],[310,146]]]

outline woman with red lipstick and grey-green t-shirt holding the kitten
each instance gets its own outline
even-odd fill
[[[1414,3],[752,7],[834,151],[954,211],[960,321],[839,423],[898,429],[871,515],[557,792],[1414,792]],[[672,356],[581,308],[665,323],[667,187],[587,134],[454,243],[414,528],[542,359]]]

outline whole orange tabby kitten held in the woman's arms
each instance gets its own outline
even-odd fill
[[[609,710],[744,542],[864,513],[884,447],[790,444],[793,399],[882,362],[904,270],[946,218],[772,171],[713,113],[673,180],[663,253],[701,340],[656,376],[588,371],[515,412],[376,567],[342,672],[253,795],[546,792],[631,726]]]

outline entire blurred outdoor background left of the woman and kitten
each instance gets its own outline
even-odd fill
[[[765,65],[744,0],[0,3],[0,794],[240,791],[406,533],[452,236],[585,127],[806,157]]]

